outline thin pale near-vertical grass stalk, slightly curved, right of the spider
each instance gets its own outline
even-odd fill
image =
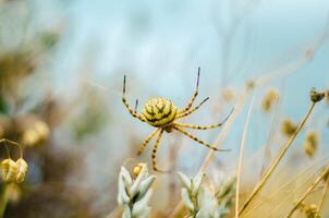
[[[242,169],[242,159],[243,159],[243,154],[244,154],[244,145],[245,145],[245,138],[246,138],[246,133],[249,124],[249,119],[252,114],[252,109],[254,106],[254,96],[252,98],[251,106],[248,108],[248,113],[246,121],[244,123],[244,129],[243,129],[243,134],[242,134],[242,140],[241,140],[241,146],[240,146],[240,156],[239,156],[239,164],[237,164],[237,170],[236,170],[236,189],[235,189],[235,218],[239,218],[239,191],[240,191],[240,179],[241,179],[241,169]]]

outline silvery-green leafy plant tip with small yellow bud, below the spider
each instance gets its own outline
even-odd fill
[[[123,209],[123,218],[144,218],[148,217],[150,211],[148,202],[153,193],[151,184],[156,177],[148,175],[145,164],[135,167],[134,173],[135,179],[124,167],[121,167],[118,203]]]

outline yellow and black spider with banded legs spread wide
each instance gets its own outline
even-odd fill
[[[162,137],[163,132],[171,133],[172,131],[178,131],[185,136],[190,137],[191,140],[212,149],[216,152],[228,152],[229,149],[219,149],[216,148],[215,146],[195,137],[191,133],[186,132],[183,128],[187,129],[196,129],[196,130],[208,130],[208,129],[214,129],[221,126],[232,114],[233,109],[231,112],[227,116],[227,118],[221,121],[220,123],[207,125],[207,126],[200,126],[200,125],[192,125],[192,124],[185,124],[178,122],[181,118],[187,117],[191,113],[195,112],[197,109],[202,107],[204,102],[206,102],[209,97],[205,98],[199,105],[196,107],[193,107],[193,104],[195,101],[195,98],[198,95],[198,84],[199,84],[199,74],[200,74],[200,68],[198,68],[197,71],[197,82],[196,82],[196,89],[187,104],[187,106],[179,110],[179,108],[173,105],[173,102],[169,99],[162,98],[162,97],[154,97],[150,98],[145,105],[144,108],[142,109],[142,114],[137,113],[137,104],[138,100],[136,100],[135,105],[135,110],[131,108],[131,106],[127,104],[126,98],[125,98],[125,81],[126,76],[124,75],[123,77],[123,93],[122,93],[122,102],[125,106],[125,108],[129,110],[129,112],[134,117],[141,120],[142,122],[146,122],[153,126],[156,128],[156,130],[148,135],[148,137],[143,142],[142,146],[138,149],[138,156],[142,155],[148,143],[151,141],[157,135],[157,140],[155,143],[155,146],[153,148],[153,154],[151,154],[151,164],[153,164],[153,169],[158,172],[168,172],[164,170],[160,170],[157,167],[157,161],[156,161],[156,156],[157,156],[157,150],[158,146],[160,144],[160,140]]]

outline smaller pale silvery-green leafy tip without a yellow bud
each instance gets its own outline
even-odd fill
[[[200,173],[194,179],[187,178],[184,173],[178,172],[182,183],[182,201],[188,210],[188,218],[200,217],[200,185],[205,178],[205,173]]]

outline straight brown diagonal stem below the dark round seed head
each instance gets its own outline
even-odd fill
[[[246,202],[244,203],[244,205],[240,209],[239,215],[241,215],[245,210],[245,208],[251,204],[251,202],[254,199],[254,197],[259,193],[259,191],[261,190],[261,187],[268,181],[269,177],[272,174],[272,172],[275,171],[275,169],[278,167],[279,162],[281,161],[282,157],[287,153],[288,148],[291,146],[291,144],[296,138],[297,134],[303,129],[303,126],[304,126],[305,122],[307,121],[309,114],[312,113],[315,105],[316,105],[316,102],[313,101],[312,105],[310,105],[310,107],[309,107],[309,109],[307,110],[305,117],[303,118],[302,122],[297,126],[296,131],[292,134],[292,136],[289,138],[289,141],[283,145],[283,147],[282,147],[280,154],[278,155],[278,157],[275,159],[275,161],[272,162],[272,165],[270,166],[270,168],[268,169],[268,171],[266,171],[266,173],[261,178],[260,182],[256,185],[256,187],[254,189],[254,191],[252,192],[252,194],[248,196],[248,198],[246,199]]]

